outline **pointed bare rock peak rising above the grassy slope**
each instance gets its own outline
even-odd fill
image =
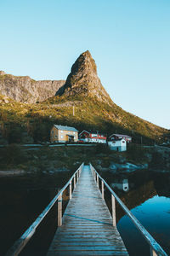
[[[56,95],[96,96],[101,102],[112,102],[99,80],[95,61],[88,50],[82,53],[73,64],[65,85],[59,89]]]

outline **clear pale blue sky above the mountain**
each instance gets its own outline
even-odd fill
[[[66,79],[89,49],[116,104],[170,129],[169,0],[1,0],[0,70]]]

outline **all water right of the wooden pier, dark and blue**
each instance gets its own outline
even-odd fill
[[[106,176],[106,173],[105,173]],[[170,174],[149,171],[109,176],[109,182],[127,179],[129,190],[114,189],[161,247],[170,254]],[[112,176],[112,177],[111,177]],[[117,229],[130,255],[150,255],[150,247],[132,221],[116,204]]]

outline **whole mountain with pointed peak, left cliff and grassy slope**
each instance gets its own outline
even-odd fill
[[[107,135],[125,133],[136,143],[141,143],[142,137],[146,144],[161,143],[169,134],[167,129],[127,113],[112,102],[89,51],[77,58],[66,81],[35,81],[0,73],[0,125],[8,141],[14,142],[15,134],[18,142],[25,132],[35,142],[48,141],[54,124]]]

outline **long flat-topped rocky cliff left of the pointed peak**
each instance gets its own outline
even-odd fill
[[[30,77],[17,77],[0,71],[0,94],[16,102],[42,102],[54,96],[56,90],[65,84],[65,80],[35,81]]]

